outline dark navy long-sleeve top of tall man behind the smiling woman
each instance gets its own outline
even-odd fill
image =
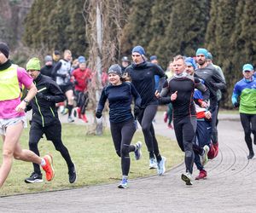
[[[160,77],[158,91],[162,89],[163,83],[166,80],[166,74],[160,66],[144,61],[136,65],[131,64],[125,69],[125,72],[131,77],[131,83],[137,89],[137,92],[142,97],[142,107],[148,105],[158,105],[158,99],[155,97],[155,81],[154,76]]]

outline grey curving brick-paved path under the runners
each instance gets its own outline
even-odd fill
[[[161,117],[156,132],[173,138]],[[180,179],[181,164],[165,176],[131,181],[125,190],[115,183],[1,198],[0,212],[256,212],[256,160],[246,158],[238,117],[220,119],[218,157],[206,166],[207,180],[194,181],[192,187]]]

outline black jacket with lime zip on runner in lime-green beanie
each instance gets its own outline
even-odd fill
[[[32,122],[44,127],[58,119],[55,103],[64,101],[65,95],[54,80],[41,73],[33,82],[38,89],[38,94],[26,107],[26,111],[32,109]]]

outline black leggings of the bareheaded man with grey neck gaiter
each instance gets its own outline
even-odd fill
[[[186,172],[192,174],[195,154],[193,151],[193,140],[195,138],[196,118],[186,117],[174,119],[174,130],[177,144],[185,152]]]

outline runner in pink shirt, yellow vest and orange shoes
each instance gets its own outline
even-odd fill
[[[20,101],[22,85],[29,91],[25,99]],[[23,68],[11,63],[6,43],[0,43],[0,91],[0,135],[3,137],[0,187],[9,176],[13,158],[40,164],[46,172],[47,181],[51,181],[55,176],[51,155],[40,158],[32,151],[20,147],[20,135],[26,126],[24,110],[26,104],[37,94],[37,88]]]

